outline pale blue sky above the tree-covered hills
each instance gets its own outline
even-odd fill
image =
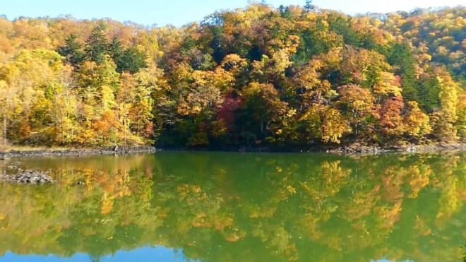
[[[275,7],[304,5],[305,0],[267,0]],[[185,25],[220,9],[241,8],[248,0],[0,0],[0,14],[19,16],[71,15],[79,19],[112,18],[143,25]],[[345,13],[410,11],[421,7],[465,5],[465,0],[314,0],[321,8]]]

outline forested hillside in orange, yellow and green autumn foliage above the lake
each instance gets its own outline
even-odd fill
[[[466,139],[466,8],[251,4],[183,28],[0,18],[2,144]]]

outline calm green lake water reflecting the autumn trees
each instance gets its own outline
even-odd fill
[[[462,262],[466,252],[465,153],[157,153],[0,168],[16,161],[58,182],[0,184],[1,262]]]

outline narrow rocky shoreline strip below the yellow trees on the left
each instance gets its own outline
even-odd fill
[[[0,160],[10,157],[40,157],[40,156],[81,156],[81,155],[124,155],[133,153],[155,153],[152,146],[112,147],[112,148],[70,148],[70,149],[45,149],[45,150],[0,150]]]

